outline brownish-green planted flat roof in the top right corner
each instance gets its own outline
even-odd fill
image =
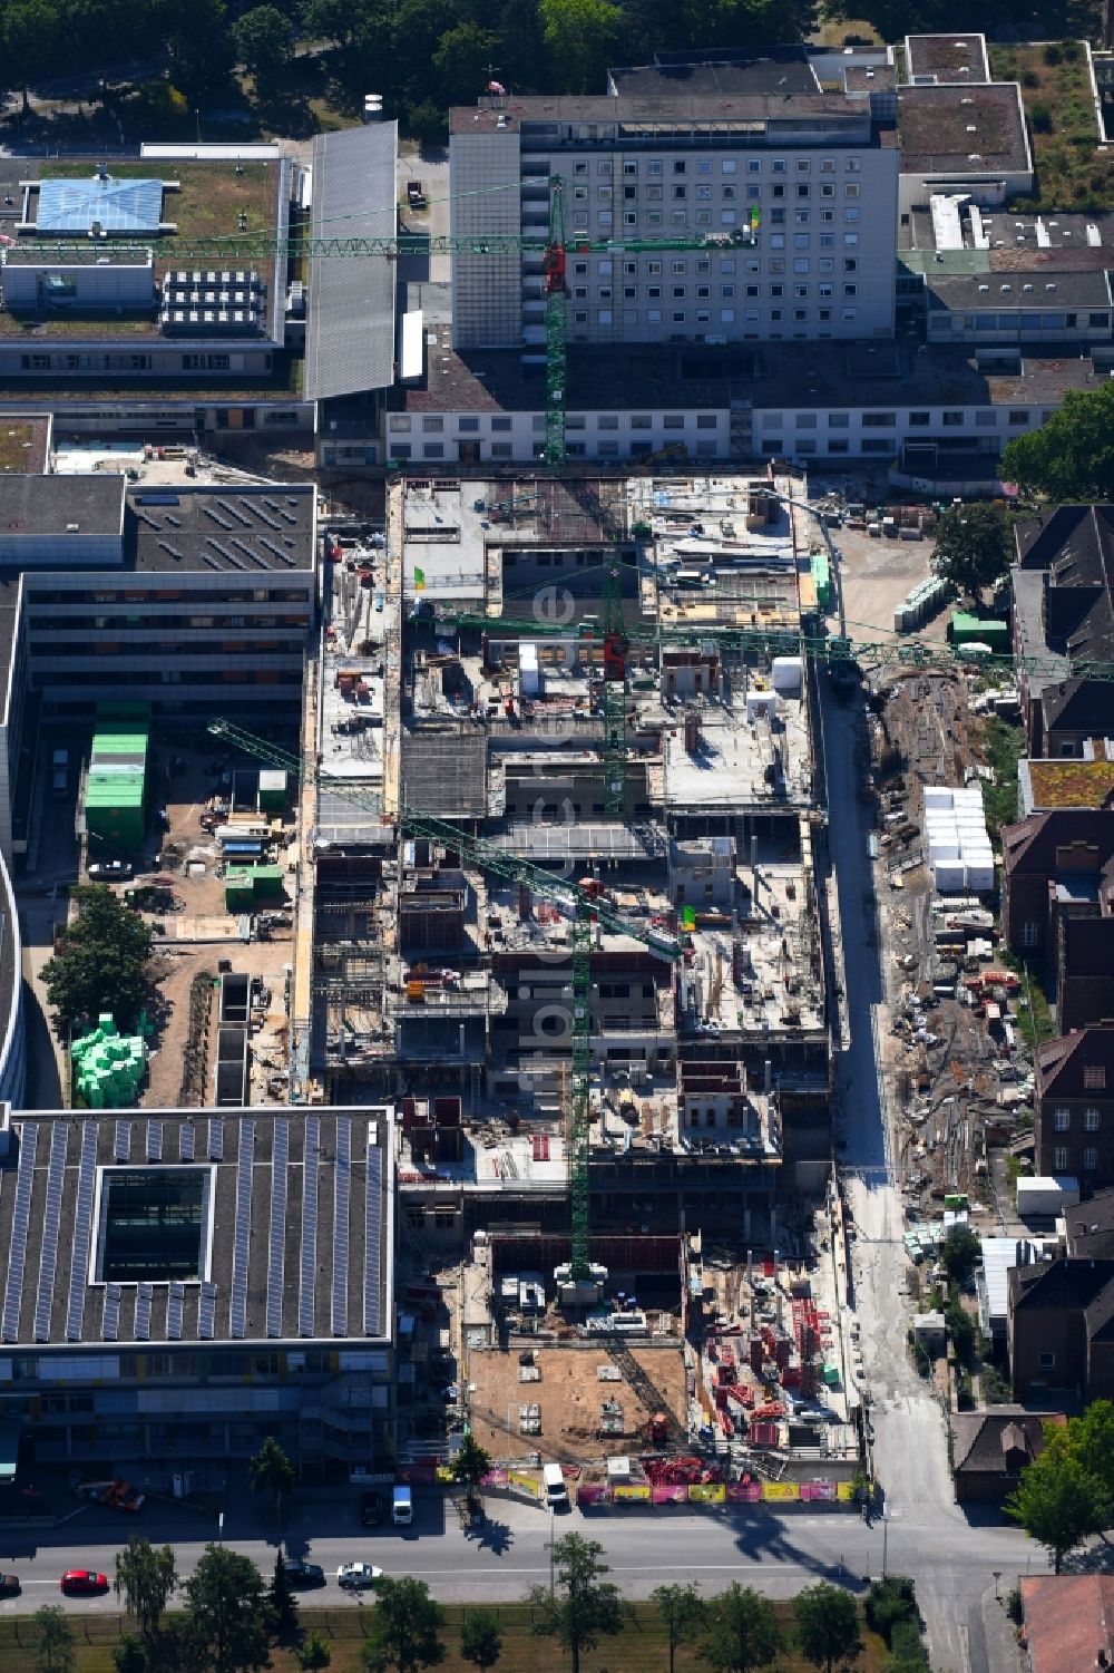
[[[1114,199],[1114,154],[1099,154],[1102,136],[1082,42],[1044,47],[990,43],[989,50],[994,79],[1020,82],[1037,172],[1032,207],[1109,209]]]

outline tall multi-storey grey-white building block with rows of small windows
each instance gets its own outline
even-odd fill
[[[893,335],[898,152],[863,100],[502,105],[452,112],[452,231],[539,248],[453,258],[457,350],[544,346],[557,179],[570,343]]]

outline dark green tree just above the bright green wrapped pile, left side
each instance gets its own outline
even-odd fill
[[[74,897],[80,917],[42,967],[47,999],[62,1022],[110,1010],[119,1029],[132,1027],[147,997],[152,932],[105,883]]]

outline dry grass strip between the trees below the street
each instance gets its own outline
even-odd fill
[[[363,1609],[351,1604],[335,1609],[313,1609],[303,1606],[301,1624],[309,1631],[321,1633],[326,1640],[333,1661],[330,1673],[363,1673],[360,1648],[363,1645],[366,1616],[375,1604]],[[786,1643],[793,1630],[793,1609],[790,1603],[774,1603]],[[443,1640],[448,1650],[442,1668],[445,1673],[468,1673],[468,1663],[460,1660],[460,1623],[465,1608],[460,1604],[445,1609]],[[569,1666],[569,1658],[549,1638],[535,1638],[530,1630],[532,1611],[527,1603],[505,1603],[495,1606],[495,1614],[503,1626],[503,1653],[498,1661],[498,1673],[537,1673],[544,1666],[547,1673],[560,1673]],[[114,1673],[112,1646],[119,1643],[127,1630],[124,1616],[85,1614],[69,1616],[77,1633],[77,1658],[74,1673]],[[855,1663],[855,1673],[881,1673],[888,1661],[888,1651],[881,1638],[868,1631],[863,1624],[865,1651]],[[28,1616],[15,1616],[0,1621],[0,1666],[27,1665],[35,1645],[35,1628]],[[636,1603],[631,1608],[631,1623],[619,1638],[604,1640],[595,1650],[582,1655],[582,1673],[656,1673],[669,1666],[669,1650],[666,1645],[661,1618],[652,1603]],[[704,1666],[698,1660],[694,1646],[684,1645],[677,1650],[677,1670]],[[298,1673],[298,1663],[291,1650],[273,1651],[274,1673]],[[779,1673],[810,1673],[808,1663],[791,1646],[776,1658]]]

